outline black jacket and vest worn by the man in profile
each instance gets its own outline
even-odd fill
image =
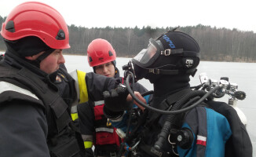
[[[5,53],[0,63],[0,156],[80,156],[68,104],[53,84],[55,79]],[[108,82],[114,82],[109,88],[115,87],[115,80]],[[93,89],[93,81],[87,86]],[[101,90],[103,86],[93,93],[100,95]]]

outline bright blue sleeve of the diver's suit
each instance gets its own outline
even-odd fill
[[[218,112],[206,108],[207,111],[207,146],[204,156],[207,157],[224,157],[225,143],[232,135],[228,120]],[[191,117],[193,119],[193,117]],[[186,127],[192,130],[187,122],[184,122],[183,128]],[[196,155],[196,134],[193,133],[194,141],[189,149],[177,147],[177,152],[180,157],[202,156]]]

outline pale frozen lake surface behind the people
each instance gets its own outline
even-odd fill
[[[87,62],[86,56],[69,56],[65,55],[66,67],[68,71],[79,69],[81,71],[93,71]],[[130,58],[119,57],[116,60],[117,68],[119,68],[120,75],[123,76],[122,66],[127,64]],[[221,77],[229,77],[229,82],[238,84],[238,89],[247,93],[245,100],[238,101],[238,107],[247,116],[247,131],[251,137],[254,149],[256,148],[256,64],[255,63],[234,63],[234,62],[210,62],[201,61],[198,71],[194,78],[191,78],[191,85],[199,84],[199,74],[207,73],[210,79],[219,80]],[[139,81],[148,90],[153,89],[153,86],[148,80],[142,79]],[[228,103],[229,97],[222,97],[218,99]],[[256,156],[256,151],[254,151]]]

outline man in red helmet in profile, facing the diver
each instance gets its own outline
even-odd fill
[[[91,100],[97,100],[94,95],[102,100],[102,92],[115,88],[118,79],[94,73],[85,79],[83,75],[81,80],[88,82],[82,85],[88,90],[79,94],[71,89],[75,91],[71,100],[62,98],[54,83],[60,64],[65,62],[62,51],[70,47],[68,27],[49,5],[17,5],[2,24],[1,35],[7,50],[0,62],[0,156],[82,156],[71,103],[77,95],[80,101],[88,99],[84,93]],[[67,76],[68,82],[75,82]],[[106,79],[108,83],[104,83]]]

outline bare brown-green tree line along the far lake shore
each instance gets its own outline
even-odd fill
[[[6,17],[0,16],[0,24]],[[71,49],[64,53],[71,55],[86,55],[87,46],[95,38],[104,38],[112,43],[118,57],[134,57],[148,46],[149,38],[157,38],[174,27],[77,27],[68,26]],[[213,61],[256,61],[256,34],[253,31],[217,28],[198,24],[196,26],[179,27],[191,35],[199,43],[202,60]],[[0,35],[0,50],[5,50]]]

